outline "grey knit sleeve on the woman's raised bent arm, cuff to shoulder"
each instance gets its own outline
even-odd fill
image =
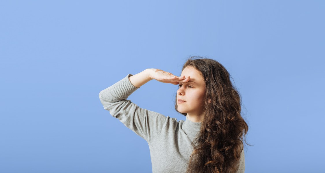
[[[126,100],[138,89],[130,82],[130,76],[133,75],[128,74],[122,80],[102,90],[99,99],[112,117],[118,118],[127,128],[149,143],[168,125],[170,117],[140,108],[131,100]]]

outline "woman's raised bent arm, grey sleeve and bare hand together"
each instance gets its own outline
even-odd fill
[[[148,143],[152,138],[166,127],[169,121],[173,121],[169,116],[143,109],[127,98],[151,79],[156,79],[164,83],[178,83],[182,77],[172,77],[170,73],[148,68],[136,75],[128,74],[122,80],[99,93],[99,99],[104,109],[110,111],[111,116],[118,118],[127,128],[145,139]]]

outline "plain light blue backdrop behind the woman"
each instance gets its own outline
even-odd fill
[[[246,172],[325,172],[324,1],[1,1],[0,172],[151,172],[98,94],[189,56],[223,64],[249,125]],[[185,120],[177,85],[128,99]]]

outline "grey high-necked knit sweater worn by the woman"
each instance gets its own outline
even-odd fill
[[[113,117],[148,142],[153,173],[185,173],[193,151],[190,143],[199,134],[201,122],[192,122],[187,117],[177,121],[126,100],[138,89],[130,82],[130,76],[101,91],[100,102]],[[238,173],[244,171],[242,150]]]

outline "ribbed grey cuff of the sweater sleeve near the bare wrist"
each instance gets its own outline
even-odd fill
[[[129,77],[133,76],[132,74],[128,74],[122,80],[116,82],[111,86],[111,93],[118,98],[126,99],[133,92],[135,92],[138,88],[136,88],[129,80]]]

